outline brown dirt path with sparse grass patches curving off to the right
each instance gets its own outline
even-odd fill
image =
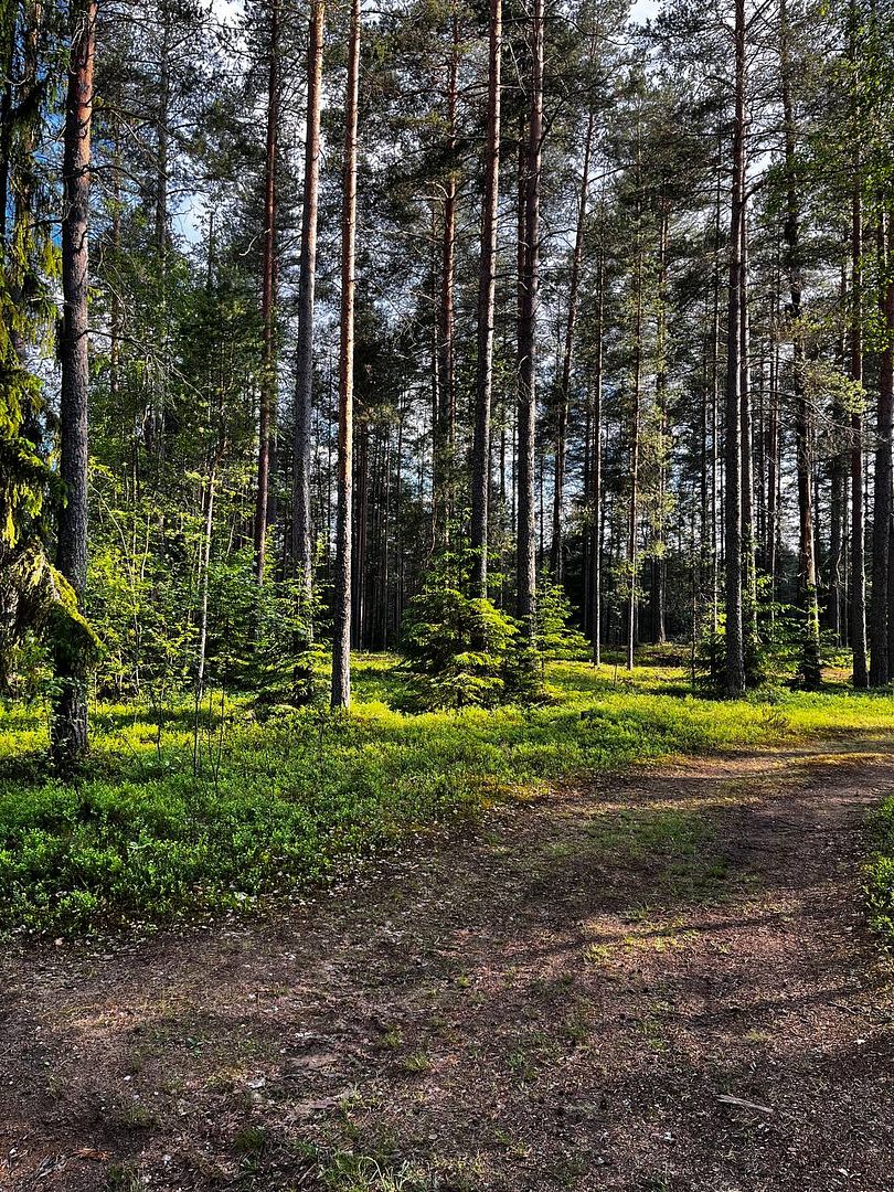
[[[275,923],[7,956],[0,1187],[894,1190],[892,789],[890,740],[664,766]]]

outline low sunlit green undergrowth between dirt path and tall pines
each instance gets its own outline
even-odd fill
[[[359,656],[349,715],[275,709],[261,721],[228,700],[222,719],[218,694],[203,712],[197,765],[191,706],[159,716],[145,706],[101,704],[89,764],[74,781],[48,772],[43,709],[2,712],[0,931],[58,933],[246,908],[331,881],[408,833],[476,817],[557,777],[894,728],[887,695],[837,684],[821,695],[721,702],[689,694],[684,671],[659,663],[632,676],[554,664],[544,707],[412,715],[401,710],[395,659]],[[887,896],[890,917],[894,805],[888,817],[877,898]],[[668,828],[620,825],[634,849],[644,832]],[[697,845],[697,826],[670,828],[675,848]]]

